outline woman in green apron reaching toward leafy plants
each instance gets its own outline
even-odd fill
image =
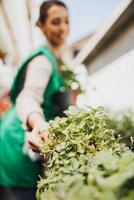
[[[47,140],[47,122],[68,106],[61,108],[61,99],[57,100],[64,84],[58,64],[69,33],[66,5],[45,1],[37,25],[47,38],[47,46],[36,49],[20,66],[11,89],[13,106],[0,127],[0,184],[12,188],[15,200],[34,199],[41,174],[41,163],[23,153],[25,129],[31,131],[29,147],[38,150],[40,142]]]

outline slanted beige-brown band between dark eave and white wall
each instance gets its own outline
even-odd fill
[[[116,39],[109,41],[108,47],[104,50],[102,49],[101,53],[86,65],[89,74],[107,66],[132,49],[134,49],[134,23],[129,24],[124,30],[121,30]]]

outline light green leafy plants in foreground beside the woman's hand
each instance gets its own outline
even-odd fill
[[[134,154],[119,144],[102,108],[71,106],[50,121],[42,145],[44,177],[38,200],[131,200]]]

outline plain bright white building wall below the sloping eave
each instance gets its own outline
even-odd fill
[[[134,110],[134,49],[89,76],[87,85],[79,105]]]

